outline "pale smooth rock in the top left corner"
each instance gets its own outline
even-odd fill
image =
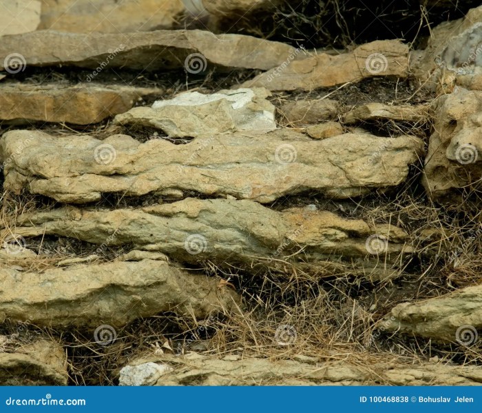
[[[2,1],[0,37],[6,34],[21,34],[36,30],[40,23],[40,8],[41,3],[38,0]],[[15,54],[14,49],[11,52]]]

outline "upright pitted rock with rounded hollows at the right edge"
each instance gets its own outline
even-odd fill
[[[437,98],[433,108],[422,182],[433,198],[457,199],[455,188],[481,188],[482,91],[457,88]]]

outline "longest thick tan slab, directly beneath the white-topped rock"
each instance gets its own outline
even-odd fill
[[[14,130],[3,134],[1,157],[6,189],[28,186],[67,203],[167,189],[268,203],[306,190],[334,198],[386,190],[406,179],[422,146],[415,137],[350,133],[315,141],[294,132],[238,132],[174,145],[121,134],[99,141]]]

